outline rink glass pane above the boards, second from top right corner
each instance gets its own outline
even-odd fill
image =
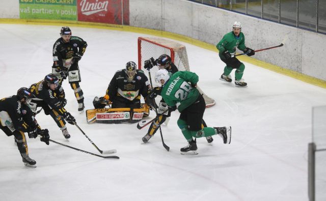
[[[315,31],[317,24],[317,1],[299,0],[298,27]]]

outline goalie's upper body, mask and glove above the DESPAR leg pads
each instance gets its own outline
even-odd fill
[[[141,108],[141,95],[145,98],[148,91],[149,81],[144,72],[134,62],[128,62],[125,69],[115,73],[105,96],[93,104],[95,108],[103,108],[100,102],[105,99],[112,102],[112,108]]]

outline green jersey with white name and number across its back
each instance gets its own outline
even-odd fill
[[[161,96],[169,106],[177,106],[179,112],[193,104],[199,91],[193,88],[198,82],[198,75],[189,71],[178,71],[174,73],[162,88]]]

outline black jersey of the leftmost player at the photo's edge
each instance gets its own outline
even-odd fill
[[[16,95],[0,100],[0,112],[1,111],[6,111],[8,113],[13,127],[16,130],[29,132],[37,127],[30,107],[21,103]],[[1,122],[3,126],[9,126],[7,125],[9,123],[10,122]]]

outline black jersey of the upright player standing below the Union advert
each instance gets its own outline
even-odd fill
[[[73,58],[74,53],[84,55],[87,43],[82,38],[77,36],[71,36],[70,41],[65,43],[60,37],[56,43],[53,45],[53,68],[65,67],[67,64],[64,62],[70,61]]]

